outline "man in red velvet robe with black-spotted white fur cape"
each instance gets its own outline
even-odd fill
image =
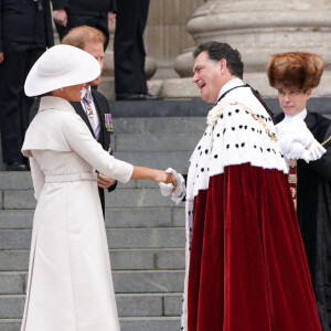
[[[237,50],[207,42],[194,57],[193,83],[216,104],[186,179],[182,330],[321,330],[273,119]]]

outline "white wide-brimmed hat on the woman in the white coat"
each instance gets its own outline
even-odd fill
[[[55,45],[34,63],[24,84],[26,96],[38,96],[61,87],[89,83],[100,75],[100,65],[87,52]]]

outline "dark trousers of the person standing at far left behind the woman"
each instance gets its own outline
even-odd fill
[[[24,82],[44,46],[6,41],[4,61],[0,64],[0,130],[4,163],[24,162],[21,147],[29,126],[33,98],[24,94]]]

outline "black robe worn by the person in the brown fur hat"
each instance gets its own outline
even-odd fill
[[[277,124],[284,114],[274,118]],[[323,331],[331,330],[331,120],[308,113],[305,122],[327,149],[319,160],[297,162],[297,215]]]

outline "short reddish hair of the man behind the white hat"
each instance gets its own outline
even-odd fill
[[[105,44],[105,41],[106,36],[100,30],[88,25],[81,25],[71,29],[63,38],[62,43],[84,50],[85,44],[88,42],[100,42]]]

